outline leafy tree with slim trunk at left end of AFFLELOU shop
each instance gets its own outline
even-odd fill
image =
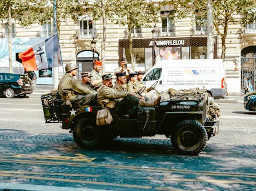
[[[129,52],[134,70],[133,62],[133,40],[131,31],[134,28],[147,26],[147,23],[159,22],[158,11],[160,6],[147,3],[146,0],[109,0],[111,5],[110,20],[118,25],[127,26]]]

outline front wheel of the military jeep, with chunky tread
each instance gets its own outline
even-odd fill
[[[179,153],[196,155],[206,147],[208,136],[201,123],[184,120],[174,126],[174,133],[170,139]]]

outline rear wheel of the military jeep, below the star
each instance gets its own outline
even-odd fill
[[[96,126],[96,119],[81,118],[73,126],[73,138],[77,145],[83,148],[91,148],[99,145],[100,132]]]

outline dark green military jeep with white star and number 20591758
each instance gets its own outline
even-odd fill
[[[82,148],[99,146],[117,136],[141,138],[165,135],[181,154],[200,153],[211,136],[219,132],[219,110],[213,111],[214,99],[202,90],[169,91],[157,108],[134,107],[129,118],[118,116],[110,109],[113,121],[96,126],[96,114],[101,106],[66,104],[52,93],[41,96],[45,123],[62,123],[70,129],[75,142]]]

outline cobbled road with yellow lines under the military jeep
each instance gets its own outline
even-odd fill
[[[219,134],[181,156],[162,135],[82,150],[60,123],[44,123],[42,92],[0,98],[0,190],[256,190],[256,113],[242,97],[215,100]]]

